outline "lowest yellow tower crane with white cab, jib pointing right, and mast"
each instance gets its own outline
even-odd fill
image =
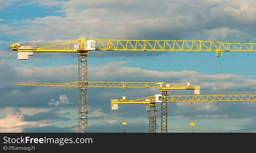
[[[141,99],[111,99],[111,106],[118,110],[118,104],[148,104],[147,111],[149,111],[149,132],[155,133],[156,129],[156,111],[157,104],[164,102],[245,102],[256,101],[256,95],[179,95],[179,96],[166,96],[156,94]],[[191,126],[193,128],[195,124]],[[193,129],[192,129],[193,130]]]

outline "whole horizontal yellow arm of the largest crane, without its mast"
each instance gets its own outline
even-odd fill
[[[93,43],[90,47],[87,41]],[[15,51],[33,52],[87,52],[92,50],[114,51],[256,51],[256,43],[226,43],[202,40],[100,40],[80,39],[55,45],[11,44]]]

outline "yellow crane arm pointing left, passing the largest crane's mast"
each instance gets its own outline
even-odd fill
[[[188,89],[200,90],[200,86],[177,86],[164,82],[104,82],[104,81],[88,81],[87,87],[97,88],[158,88],[158,89]],[[79,87],[79,82],[70,83],[42,83],[42,82],[22,82],[19,86],[55,86],[55,87]]]

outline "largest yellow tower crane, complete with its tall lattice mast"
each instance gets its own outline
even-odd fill
[[[11,44],[18,60],[27,60],[33,52],[65,52],[78,54],[78,132],[87,132],[87,57],[89,51],[213,51],[222,56],[223,51],[256,51],[255,43],[225,43],[202,40],[90,40],[79,39],[61,44]]]

